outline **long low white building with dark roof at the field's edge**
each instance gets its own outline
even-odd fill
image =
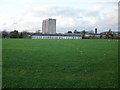
[[[75,34],[32,34],[32,39],[82,39],[81,35]]]

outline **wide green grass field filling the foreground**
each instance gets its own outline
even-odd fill
[[[118,40],[3,40],[3,88],[115,88]]]

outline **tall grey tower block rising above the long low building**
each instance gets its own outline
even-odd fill
[[[56,34],[56,19],[46,19],[42,22],[43,34]]]

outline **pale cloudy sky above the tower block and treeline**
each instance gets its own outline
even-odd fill
[[[118,30],[119,0],[0,0],[0,31],[42,31],[56,19],[57,33]]]

